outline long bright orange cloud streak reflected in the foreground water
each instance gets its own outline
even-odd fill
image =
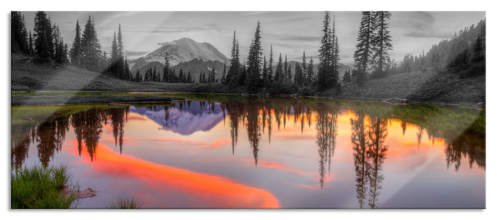
[[[75,141],[73,141],[75,142]],[[73,143],[77,146],[77,143]],[[82,158],[93,167],[94,172],[112,177],[131,177],[147,182],[147,188],[154,187],[164,196],[175,192],[186,194],[212,208],[279,208],[278,200],[269,192],[244,186],[235,180],[195,173],[165,165],[120,155],[103,144],[98,144],[98,160]],[[71,148],[77,151],[76,147]],[[158,195],[154,195],[158,196]]]

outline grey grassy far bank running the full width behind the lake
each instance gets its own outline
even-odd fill
[[[103,76],[71,65],[37,64],[29,57],[11,54],[11,91],[116,91],[187,92],[216,94],[298,94],[342,99],[385,100],[392,97],[416,102],[476,104],[485,101],[485,74],[464,78],[464,73],[437,74],[431,70],[371,79],[364,86],[345,84],[339,95],[314,88],[270,86],[248,91],[247,86],[221,84],[134,83]],[[113,102],[113,101],[111,101]]]

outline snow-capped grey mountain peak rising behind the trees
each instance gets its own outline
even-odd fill
[[[151,62],[164,64],[165,54],[169,54],[170,66],[176,66],[181,62],[188,62],[194,59],[203,61],[229,61],[229,59],[216,49],[212,44],[204,42],[199,43],[190,38],[181,38],[172,42],[163,43],[161,47],[149,53],[147,56],[137,59],[128,60],[131,72],[136,73]],[[141,72],[141,70],[140,70]]]

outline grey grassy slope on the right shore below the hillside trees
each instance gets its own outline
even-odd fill
[[[345,85],[340,97],[476,104],[485,101],[485,76],[460,79],[457,74],[415,71],[369,80],[364,87]]]

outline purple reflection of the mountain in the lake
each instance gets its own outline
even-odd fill
[[[171,106],[157,108],[130,107],[130,112],[147,116],[160,124],[163,129],[182,135],[190,135],[195,131],[208,131],[224,119],[221,105],[216,103],[189,101]]]

